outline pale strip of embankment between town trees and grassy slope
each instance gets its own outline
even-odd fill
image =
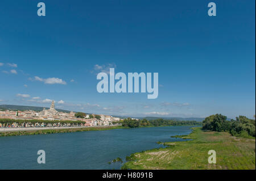
[[[112,126],[97,126],[97,127],[112,127]],[[46,129],[71,129],[71,128],[96,128],[95,127],[46,127],[46,128],[0,128],[0,132],[15,132],[15,131],[38,131]]]

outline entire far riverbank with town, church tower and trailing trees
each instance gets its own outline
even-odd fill
[[[7,133],[7,132],[29,132],[29,134],[64,132],[62,129],[68,129],[69,132],[87,131],[88,129],[108,127],[110,128],[135,128],[135,127],[158,127],[158,126],[175,126],[175,125],[200,125],[198,121],[174,121],[174,120],[151,120],[127,118],[120,119],[119,117],[108,115],[86,114],[83,112],[59,112],[55,110],[55,102],[52,101],[51,107],[43,111],[33,110],[4,110],[0,111],[0,132],[1,136],[24,135],[27,133]],[[96,130],[96,129],[93,129]]]

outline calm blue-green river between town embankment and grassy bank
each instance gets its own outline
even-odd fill
[[[108,162],[189,133],[191,127],[152,127],[0,137],[0,169],[120,169]],[[38,150],[46,151],[46,164],[37,162]]]

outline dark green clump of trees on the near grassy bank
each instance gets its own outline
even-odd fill
[[[255,120],[245,116],[236,117],[236,120],[226,120],[221,114],[211,115],[203,121],[203,129],[217,132],[229,132],[232,136],[255,137]]]

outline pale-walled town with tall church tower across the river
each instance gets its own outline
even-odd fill
[[[0,128],[24,128],[24,127],[93,127],[109,126],[120,121],[119,117],[109,115],[85,114],[82,112],[58,112],[55,103],[43,111],[0,111]],[[13,121],[16,120],[16,121]]]

